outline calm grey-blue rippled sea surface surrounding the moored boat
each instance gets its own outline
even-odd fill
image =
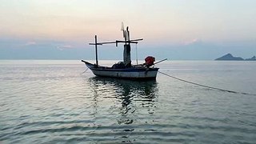
[[[111,66],[114,61],[102,61]],[[256,62],[162,62],[166,74],[256,94]],[[255,143],[256,96],[98,78],[79,61],[0,61],[0,143]]]

